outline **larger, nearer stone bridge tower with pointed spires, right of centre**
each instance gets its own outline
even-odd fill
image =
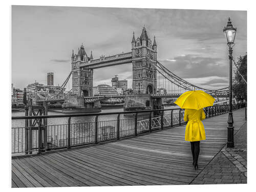
[[[135,94],[155,94],[157,89],[157,44],[152,45],[145,27],[132,40],[133,90]]]

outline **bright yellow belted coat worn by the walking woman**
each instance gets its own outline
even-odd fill
[[[203,109],[185,109],[184,121],[188,121],[185,131],[185,141],[205,140],[204,125],[201,120],[205,119]]]

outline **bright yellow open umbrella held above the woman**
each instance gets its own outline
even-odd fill
[[[205,93],[204,91],[187,91],[183,93],[174,103],[180,106],[181,109],[199,110],[212,106],[215,98]]]

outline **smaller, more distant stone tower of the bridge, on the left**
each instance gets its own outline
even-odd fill
[[[78,48],[77,54],[74,54],[73,50],[71,56],[72,90],[78,97],[93,96],[93,70],[79,67],[81,63],[91,59],[93,59],[92,52],[91,56],[88,57],[83,45]]]

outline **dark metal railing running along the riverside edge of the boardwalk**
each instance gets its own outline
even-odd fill
[[[233,104],[233,110],[245,103]],[[228,113],[229,105],[215,105],[204,108],[206,118]],[[143,114],[143,115],[141,115]],[[99,116],[116,115],[116,119],[98,120]],[[130,115],[120,118],[121,115]],[[76,122],[76,117],[95,117],[92,122]],[[103,141],[137,136],[155,130],[184,124],[183,109],[147,110],[100,114],[69,114],[47,116],[19,116],[12,120],[36,120],[37,126],[12,127],[12,155],[30,155],[60,148],[97,144]],[[41,122],[53,118],[67,118],[66,124],[43,125]],[[26,121],[27,120],[27,121]]]

